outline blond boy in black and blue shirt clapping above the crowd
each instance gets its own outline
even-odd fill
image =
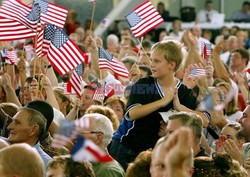
[[[205,114],[194,111],[198,101],[193,92],[174,77],[182,62],[177,43],[158,42],[151,49],[152,76],[137,81],[131,89],[124,119],[114,135],[110,154],[124,169],[144,150],[153,148],[159,139],[159,112],[170,109],[195,112],[207,126]]]

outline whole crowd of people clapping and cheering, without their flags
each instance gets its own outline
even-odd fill
[[[46,56],[23,49],[32,39],[0,43],[18,56],[16,64],[1,56],[1,177],[250,176],[247,30],[223,27],[212,41],[199,25],[182,31],[175,20],[156,41],[148,35],[137,43],[129,28],[94,36],[69,14],[65,31],[90,56],[81,63],[80,97],[64,87],[73,71],[60,76]],[[99,68],[100,47],[128,77]],[[113,93],[97,99],[107,85]],[[74,161],[72,137],[52,145],[62,121],[86,119],[81,135],[112,161]]]

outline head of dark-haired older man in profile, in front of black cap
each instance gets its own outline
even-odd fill
[[[30,108],[20,108],[9,124],[10,135],[8,141],[14,143],[27,143],[34,146],[40,141],[46,131],[46,119],[44,116]]]

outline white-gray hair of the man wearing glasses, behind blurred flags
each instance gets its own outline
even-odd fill
[[[95,121],[95,127],[93,131],[103,133],[104,135],[103,145],[104,147],[107,147],[112,140],[113,132],[114,132],[113,125],[111,121],[109,120],[109,118],[98,113],[85,114],[82,118],[85,118],[85,117],[88,117],[91,120]]]

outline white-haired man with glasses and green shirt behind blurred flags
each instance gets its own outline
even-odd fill
[[[108,152],[107,146],[113,136],[113,126],[111,121],[101,114],[85,114],[81,119],[90,118],[90,127],[88,131],[82,134],[92,140],[104,152]],[[94,172],[96,177],[124,177],[125,173],[121,165],[113,160],[109,163],[94,163]]]

